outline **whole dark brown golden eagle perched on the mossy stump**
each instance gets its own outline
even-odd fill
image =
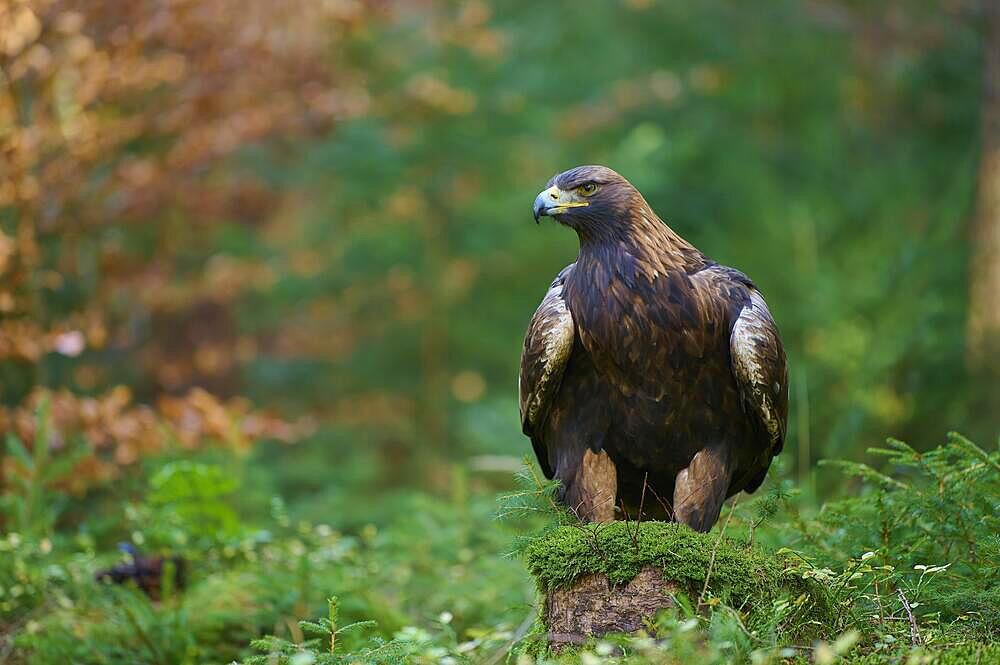
[[[708,531],[785,439],[788,370],[764,298],[607,167],[555,176],[534,213],[580,238],[521,355],[521,424],[542,470],[582,519],[644,505]]]

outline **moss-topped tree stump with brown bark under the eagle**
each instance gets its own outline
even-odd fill
[[[803,637],[821,632],[832,614],[823,589],[786,572],[774,555],[680,524],[561,527],[529,545],[525,563],[543,596],[544,632],[557,649],[640,630],[678,594],[694,604],[703,590],[751,618],[786,599],[792,630]]]

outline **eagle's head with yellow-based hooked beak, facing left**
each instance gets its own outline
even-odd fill
[[[606,166],[577,166],[549,180],[535,197],[535,221],[549,216],[579,233],[613,231],[626,224],[642,195]]]

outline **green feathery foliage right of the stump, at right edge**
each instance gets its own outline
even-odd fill
[[[892,439],[872,452],[888,473],[838,462],[861,480],[856,495],[780,529],[798,569],[828,584],[842,625],[909,640],[905,598],[932,635],[1000,639],[1000,452],[958,434],[925,453]]]

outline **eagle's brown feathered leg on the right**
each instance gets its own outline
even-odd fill
[[[674,519],[695,531],[708,532],[719,519],[733,477],[729,447],[699,450],[674,483]]]

